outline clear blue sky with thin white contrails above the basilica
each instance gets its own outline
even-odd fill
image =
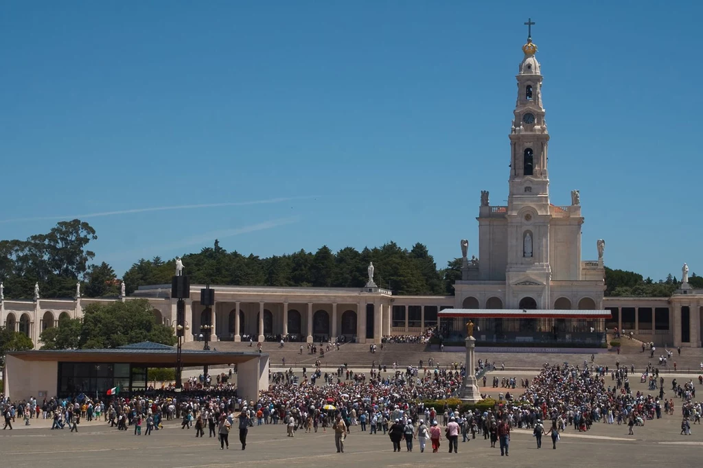
[[[531,17],[551,199],[581,190],[583,259],[604,238],[612,268],[680,278],[687,261],[703,274],[701,2],[2,10],[2,239],[120,212],[84,216],[96,261],[118,275],[216,237],[260,256],[419,241],[444,265],[461,238],[477,254],[480,190],[507,198]]]

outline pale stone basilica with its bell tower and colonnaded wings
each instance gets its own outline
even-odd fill
[[[198,302],[204,286],[191,285],[186,340],[208,334],[212,340],[256,342],[285,335],[307,342],[345,337],[378,343],[388,335],[444,330],[442,317],[455,311],[484,317],[488,341],[617,327],[647,342],[701,346],[703,290],[692,289],[688,282],[671,297],[604,297],[605,241],[588,239],[582,246],[579,191],[572,190],[566,205],[550,199],[550,134],[536,53],[528,38],[515,77],[517,98],[508,134],[508,204],[491,204],[489,193],[482,191],[478,256],[469,257],[468,242],[460,241],[462,278],[453,296],[394,295],[375,285],[373,268],[360,289],[214,285],[212,309]],[[583,260],[583,249],[595,259]],[[79,292],[74,299],[35,296],[10,301],[0,292],[0,323],[24,332],[37,346],[42,330],[57,326],[61,316],[82,316],[88,303],[144,298],[160,323],[176,320],[170,285],[139,287],[130,297],[116,299],[86,299]],[[526,315],[511,318],[519,313]]]

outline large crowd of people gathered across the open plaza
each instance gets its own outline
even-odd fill
[[[482,365],[495,368],[487,362]],[[18,403],[4,400],[0,407],[10,429],[20,417],[25,424],[31,424],[35,417],[51,418],[52,429],[69,426],[72,431],[79,430],[81,420],[103,418],[110,427],[133,429],[135,435],[141,435],[145,427],[146,436],[159,430],[164,420],[181,418],[181,429],[194,428],[196,437],[204,436],[207,427],[209,437],[217,437],[222,450],[228,448],[227,434],[235,424],[243,449],[246,431],[254,424],[280,424],[289,437],[297,436],[299,429],[311,433],[330,428],[340,453],[352,427],[368,434],[388,435],[394,451],[401,450],[401,441],[405,441],[406,450],[412,451],[414,441],[418,441],[420,452],[425,451],[426,442],[437,452],[446,441],[449,451],[456,453],[460,436],[463,441],[483,436],[491,447],[500,448],[501,455],[508,456],[510,431],[515,428],[533,431],[538,447],[542,436],[548,435],[556,448],[560,433],[570,428],[590,431],[598,423],[622,424],[633,434],[636,427],[662,414],[676,414],[678,404],[681,434],[690,434],[691,424],[700,424],[702,408],[695,401],[692,379],[683,384],[673,379],[671,388],[665,389],[664,378],[650,365],[638,376],[647,384],[647,391],[633,391],[633,372],[633,368],[619,363],[609,368],[592,360],[583,365],[545,365],[534,378],[520,379],[519,383],[515,377],[492,377],[494,388],[501,389],[498,404],[473,411],[447,403],[427,403],[457,396],[464,374],[458,363],[449,368],[394,366],[390,372],[375,365],[368,372],[357,372],[347,365],[323,372],[316,366],[310,371],[303,369],[302,378],[288,369],[274,372],[269,389],[262,391],[257,401],[248,402],[237,398],[236,387],[229,383],[231,373],[222,373],[214,379],[191,377],[186,392],[176,396],[168,396],[166,386],[154,390],[155,396],[82,396],[41,403],[30,398]],[[483,384],[485,387],[485,375]],[[703,384],[703,376],[698,377],[698,384]],[[505,394],[502,389],[506,389]],[[681,403],[674,403],[674,398]]]

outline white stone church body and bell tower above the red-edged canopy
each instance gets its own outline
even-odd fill
[[[602,308],[604,268],[581,261],[580,196],[572,204],[550,203],[549,134],[542,100],[541,65],[528,40],[517,74],[510,130],[508,205],[479,207],[479,259],[456,284],[456,308]],[[566,195],[566,194],[565,194]],[[486,304],[491,299],[493,304]],[[534,301],[533,301],[534,299]],[[586,300],[584,300],[586,299]],[[586,307],[578,307],[580,301]],[[476,304],[476,302],[478,304]],[[529,304],[531,303],[531,304]]]

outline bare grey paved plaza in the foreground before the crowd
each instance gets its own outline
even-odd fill
[[[510,371],[489,374],[534,377],[534,374]],[[688,376],[676,375],[678,382],[688,381]],[[607,377],[607,382],[610,377]],[[666,377],[665,390],[671,377]],[[632,379],[633,391],[644,391],[639,379]],[[497,389],[488,389],[497,393]],[[490,391],[492,390],[492,391]],[[503,390],[504,391],[504,390]],[[520,389],[515,389],[520,393]],[[124,467],[139,464],[148,467],[207,468],[238,466],[252,462],[266,462],[267,467],[310,466],[334,463],[337,467],[356,467],[360,463],[370,467],[417,466],[431,462],[446,467],[482,467],[487,464],[510,467],[564,467],[572,464],[565,455],[583,457],[591,464],[623,466],[657,466],[667,464],[685,466],[699,458],[703,448],[703,429],[692,426],[691,436],[681,436],[681,400],[674,398],[676,412],[664,415],[661,420],[647,421],[644,427],[635,427],[635,435],[628,436],[626,425],[594,424],[591,431],[579,433],[567,429],[557,450],[550,448],[548,438],[538,450],[529,430],[514,429],[510,443],[510,457],[501,457],[500,450],[491,449],[483,436],[473,441],[459,443],[459,453],[449,454],[443,443],[439,453],[432,450],[420,453],[415,441],[413,453],[392,452],[387,436],[371,435],[352,427],[345,441],[345,453],[335,451],[333,432],[304,434],[299,429],[294,438],[285,436],[281,424],[268,424],[249,429],[247,450],[241,450],[238,430],[230,434],[229,450],[219,450],[217,439],[195,438],[195,430],[180,429],[179,421],[166,422],[164,429],[150,436],[134,436],[134,431],[117,431],[106,422],[82,422],[77,434],[69,429],[49,429],[49,420],[31,420],[30,427],[20,420],[13,431],[0,431],[0,460],[3,467]],[[573,464],[576,464],[574,461]]]

